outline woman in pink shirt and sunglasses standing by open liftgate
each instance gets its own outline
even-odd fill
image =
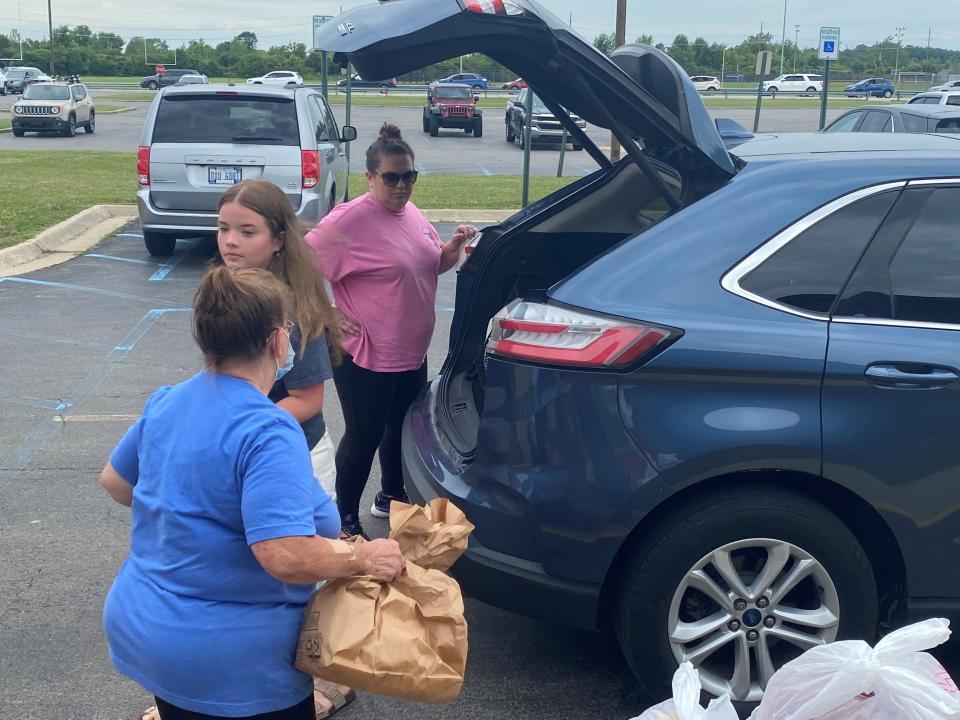
[[[307,235],[330,281],[346,351],[333,370],[345,432],[337,447],[337,505],[346,535],[364,535],[360,497],[380,450],[381,490],[370,512],[388,517],[406,501],[400,428],[427,381],[427,348],[436,320],[437,276],[456,264],[476,234],[460,225],[443,243],[410,202],[417,181],[413,150],[384,123],[367,149],[369,192],[338,205]]]

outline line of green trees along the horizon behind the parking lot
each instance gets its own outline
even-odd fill
[[[286,43],[268,49],[258,47],[253,32],[243,32],[232,40],[211,45],[203,39],[190,40],[177,48],[163,40],[147,37],[131,37],[124,40],[116,33],[93,32],[86,25],[54,29],[56,71],[59,75],[77,73],[84,75],[136,76],[151,75],[157,63],[176,65],[198,70],[211,77],[243,78],[262,75],[271,70],[294,70],[308,78],[318,78],[322,67],[321,53],[312,52],[304,43]],[[653,44],[649,35],[641,35],[637,42]],[[602,33],[594,38],[594,45],[609,54],[614,49],[613,35]],[[717,75],[721,69],[725,75],[753,76],[758,50],[774,51],[774,72],[780,67],[781,44],[770,33],[747,37],[737,45],[708,43],[698,37],[690,40],[686,35],[677,35],[670,45],[657,44],[688,73],[692,75]],[[15,31],[0,33],[0,57],[15,58],[20,54],[20,38]],[[14,64],[30,65],[46,69],[49,65],[50,46],[46,40],[24,39],[23,59]],[[819,72],[822,62],[817,60],[815,48],[797,47],[789,39],[782,46],[785,72]],[[459,72],[476,72],[485,75],[493,83],[511,80],[515,74],[490,58],[472,54],[445,60],[419,70],[406,73],[397,79],[401,82],[428,82]],[[7,61],[7,64],[11,64]],[[872,45],[847,48],[840,59],[833,63],[838,74],[854,77],[891,75],[898,67],[904,72],[935,74],[941,70],[960,70],[960,51],[942,48],[927,48],[907,45],[899,49],[892,37]],[[330,72],[335,74],[332,62]],[[370,78],[380,79],[380,78]]]

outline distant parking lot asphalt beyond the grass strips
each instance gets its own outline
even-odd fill
[[[143,91],[139,91],[143,92]],[[116,90],[101,90],[92,93],[97,96],[122,95]],[[12,96],[0,97],[0,108],[9,107]],[[135,108],[132,112],[114,115],[102,115],[97,119],[97,132],[94,135],[77,133],[76,137],[63,138],[56,135],[36,135],[28,133],[15,138],[10,133],[0,133],[0,150],[115,150],[135,152],[140,142],[140,130],[146,118],[149,103],[123,103],[111,99],[110,104],[127,104]],[[506,101],[504,101],[506,107]],[[337,121],[345,121],[346,108],[333,106]],[[523,151],[519,145],[507,144],[504,133],[504,111],[484,110],[483,137],[474,138],[462,130],[442,129],[440,136],[431,138],[423,132],[422,114],[419,107],[377,107],[359,105],[352,108],[351,124],[356,126],[357,141],[352,143],[351,167],[354,171],[363,170],[363,154],[367,146],[377,137],[384,122],[398,125],[404,138],[416,153],[417,167],[424,174],[460,174],[460,175],[520,175],[523,172]],[[827,113],[828,122],[839,116],[842,110]],[[747,128],[753,127],[753,110],[720,109],[710,110],[714,117],[729,117]],[[798,108],[781,110],[764,109],[760,129],[763,132],[802,132],[817,129],[819,109]],[[601,149],[606,151],[610,144],[610,133],[595,126],[588,126],[587,134]],[[533,175],[556,175],[560,151],[556,147],[535,147],[530,156],[530,171]],[[564,154],[565,175],[586,175],[596,170],[597,165],[586,151],[575,152],[569,147]]]

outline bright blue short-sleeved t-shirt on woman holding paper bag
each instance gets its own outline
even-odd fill
[[[130,555],[103,612],[116,668],[208,715],[309,696],[293,661],[315,586],[274,579],[249,547],[340,530],[293,416],[245,380],[202,372],[155,392],[110,463],[134,486]]]

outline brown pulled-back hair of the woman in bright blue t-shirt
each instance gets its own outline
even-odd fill
[[[207,270],[193,298],[193,338],[207,367],[260,356],[270,335],[293,316],[287,285],[269,270]]]

